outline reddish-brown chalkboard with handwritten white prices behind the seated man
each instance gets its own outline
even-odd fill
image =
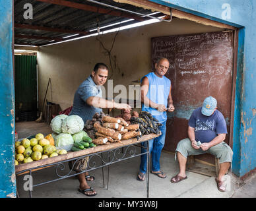
[[[159,58],[169,59],[166,76],[172,82],[176,107],[174,113],[168,114],[170,136],[166,139],[166,150],[174,151],[177,142],[187,137],[187,121],[193,109],[201,106],[207,96],[216,98],[229,129],[233,40],[232,31],[152,38],[152,69]]]

